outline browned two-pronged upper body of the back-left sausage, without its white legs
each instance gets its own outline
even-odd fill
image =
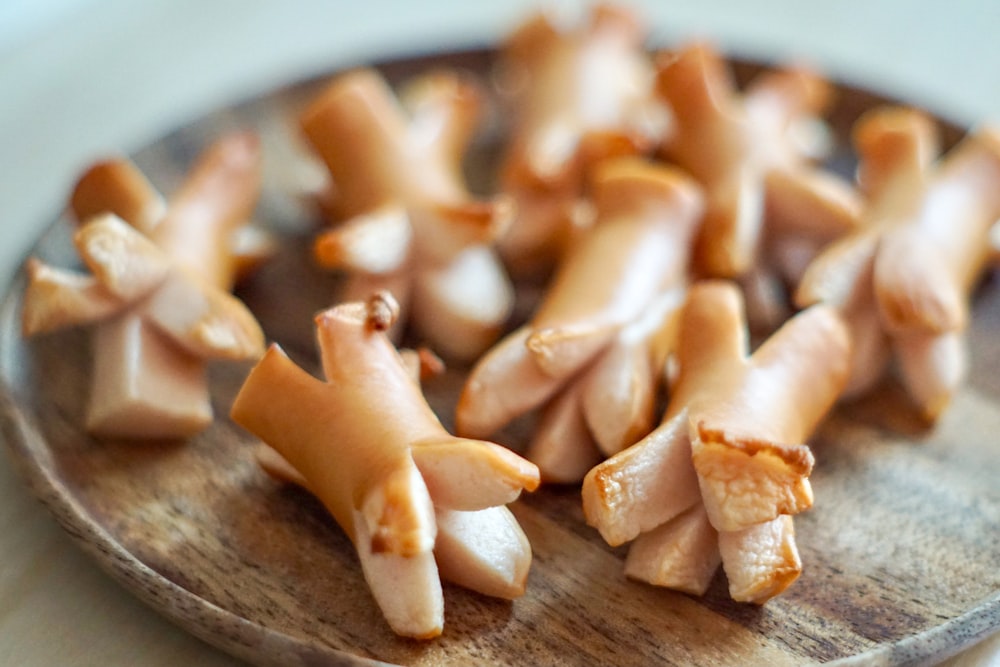
[[[302,128],[329,169],[340,218],[402,206],[418,251],[442,262],[493,240],[512,211],[502,200],[475,201],[462,182],[459,148],[480,107],[471,84],[437,72],[411,88],[408,116],[374,70],[349,72],[306,110]],[[320,238],[333,243],[336,230]]]

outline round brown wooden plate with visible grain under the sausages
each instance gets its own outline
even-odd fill
[[[390,63],[394,81],[429,65],[484,77],[486,51]],[[741,67],[746,73],[752,68]],[[269,337],[313,368],[311,314],[334,278],[310,268],[312,221],[289,194],[288,142],[318,82],[212,114],[140,151],[170,191],[221,132],[264,135],[258,217],[283,234],[281,256],[241,292]],[[843,140],[883,100],[844,87]],[[496,129],[494,127],[494,129]],[[957,136],[952,128],[949,138]],[[470,168],[484,183],[491,136]],[[835,158],[842,168],[850,158]],[[66,193],[53,193],[60,201]],[[59,220],[34,254],[70,265]],[[218,419],[187,443],[98,441],[81,431],[89,382],[84,332],[21,339],[23,279],[0,311],[3,437],[31,489],[80,545],[148,604],[259,665],[801,665],[941,659],[1000,627],[1000,289],[977,295],[972,376],[933,430],[898,389],[839,409],[814,441],[816,506],[797,520],[801,579],[763,608],[731,602],[722,575],[701,599],[627,581],[624,552],[582,519],[576,489],[547,489],[514,511],[533,545],[527,595],[497,601],[446,586],[444,635],[395,637],[369,596],[347,539],[303,492],[267,478],[258,446],[225,415],[248,370],[213,370]],[[445,419],[456,369],[428,390]]]

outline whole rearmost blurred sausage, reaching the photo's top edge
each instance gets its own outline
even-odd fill
[[[649,153],[669,127],[637,16],[598,4],[579,25],[538,13],[500,49],[501,95],[512,116],[500,190],[517,214],[498,247],[515,275],[550,268],[591,216],[590,170]]]

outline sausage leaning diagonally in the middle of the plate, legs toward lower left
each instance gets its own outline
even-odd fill
[[[701,194],[679,170],[638,158],[604,162],[593,181],[597,222],[561,263],[531,321],[472,369],[456,411],[460,434],[487,437],[569,391],[571,384],[583,383],[590,388],[575,392],[570,404],[552,404],[563,417],[543,418],[542,424],[563,430],[574,423],[577,410],[595,436],[610,434],[610,440],[602,438],[603,450],[631,444],[621,439],[633,429],[622,433],[607,423],[606,415],[631,414],[635,392],[655,394],[665,356],[660,334],[670,330],[680,303],[677,294],[687,284]],[[588,379],[591,372],[593,380]],[[612,384],[622,375],[624,390],[615,390]],[[651,413],[652,403],[643,401],[641,411]],[[651,422],[652,416],[639,421]],[[564,436],[538,437],[548,446]],[[581,457],[589,456],[592,445],[579,444]],[[537,447],[529,452],[536,461],[554,462]],[[579,481],[578,476],[571,479],[569,469],[579,466],[543,469],[543,474]]]

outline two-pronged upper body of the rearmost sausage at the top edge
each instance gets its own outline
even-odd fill
[[[511,36],[501,62],[519,90],[505,187],[580,194],[586,169],[606,149],[636,154],[658,139],[642,38],[634,14],[608,5],[575,29],[539,14]],[[588,155],[588,146],[598,150]]]

